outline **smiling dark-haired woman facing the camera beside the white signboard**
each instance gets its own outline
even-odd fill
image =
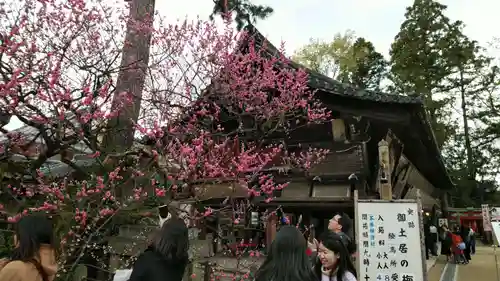
[[[320,281],[356,281],[356,268],[338,234],[329,231],[320,237],[314,273]]]

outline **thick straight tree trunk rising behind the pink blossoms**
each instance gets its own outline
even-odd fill
[[[124,96],[124,93],[131,95],[132,102],[125,103],[118,116],[108,122],[103,141],[103,148],[108,153],[124,152],[134,142],[134,123],[139,118],[149,63],[155,0],[127,2],[130,2],[130,13],[112,108],[116,109],[125,102],[127,95]]]

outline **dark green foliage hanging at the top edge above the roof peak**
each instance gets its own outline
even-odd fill
[[[214,9],[210,20],[215,16],[226,17],[227,12],[235,13],[236,28],[242,30],[247,24],[255,24],[257,20],[264,20],[273,14],[273,8],[252,4],[250,0],[214,0]]]

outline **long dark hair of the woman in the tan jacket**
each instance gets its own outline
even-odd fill
[[[40,248],[49,245],[54,248],[52,222],[42,215],[21,217],[15,226],[17,245],[12,251],[11,261],[29,262],[35,265],[43,281],[49,276],[40,264]]]

